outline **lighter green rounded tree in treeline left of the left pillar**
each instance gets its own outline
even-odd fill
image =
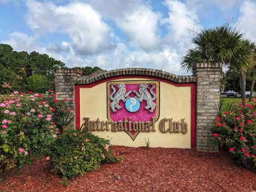
[[[39,93],[53,89],[49,78],[41,74],[33,74],[27,78],[27,90]]]

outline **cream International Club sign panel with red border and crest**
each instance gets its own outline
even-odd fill
[[[195,147],[193,83],[115,77],[76,85],[76,124],[113,145]]]

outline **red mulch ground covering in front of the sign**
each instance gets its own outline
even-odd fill
[[[49,162],[35,161],[0,182],[0,191],[256,191],[256,173],[234,164],[225,152],[115,146],[123,161],[60,184]],[[115,175],[120,180],[115,180]]]

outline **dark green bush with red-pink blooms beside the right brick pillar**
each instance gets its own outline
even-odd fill
[[[239,163],[256,170],[256,102],[233,105],[216,117],[213,141],[220,143]]]

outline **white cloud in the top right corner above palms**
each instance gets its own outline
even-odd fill
[[[256,2],[245,1],[240,7],[241,17],[238,19],[238,28],[246,38],[256,41]]]

